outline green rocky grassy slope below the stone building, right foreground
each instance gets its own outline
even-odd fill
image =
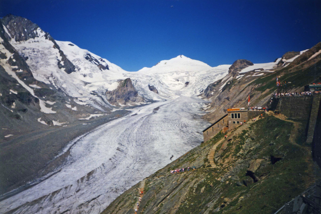
[[[215,136],[147,178],[142,213],[271,213],[301,193],[315,178],[308,147],[291,144],[292,123],[268,116],[234,135],[221,155],[219,168],[207,168],[207,153],[222,137]],[[265,130],[262,132],[262,130]],[[248,138],[253,140],[247,140]],[[272,164],[270,155],[282,157]],[[235,157],[235,158],[232,158]],[[259,179],[248,186],[248,163],[264,159],[255,172]],[[227,163],[227,164],[226,164]],[[225,167],[223,167],[225,165]],[[176,175],[170,169],[196,166]],[[137,201],[137,187],[119,196],[103,213],[131,213]],[[131,201],[131,202],[130,202]]]

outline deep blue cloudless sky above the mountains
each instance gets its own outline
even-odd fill
[[[272,62],[321,41],[320,0],[0,0],[9,13],[127,71],[181,54],[210,66]]]

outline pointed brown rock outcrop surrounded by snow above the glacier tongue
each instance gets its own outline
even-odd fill
[[[106,92],[107,100],[114,106],[137,104],[143,102],[130,78],[119,82],[117,89]]]

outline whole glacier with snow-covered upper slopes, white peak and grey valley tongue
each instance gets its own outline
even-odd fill
[[[152,68],[127,72],[71,42],[56,43],[74,64],[75,72],[68,74],[58,67],[60,55],[43,36],[11,41],[21,56],[28,57],[26,62],[36,80],[61,89],[74,101],[100,109],[106,105],[106,100],[101,100],[106,89],[113,90],[117,81],[131,78],[147,105],[132,107],[130,114],[71,141],[64,149],[69,152],[64,164],[30,183],[30,188],[0,201],[0,213],[101,212],[131,186],[200,144],[201,130],[209,123],[201,118],[207,101],[197,95],[224,77],[230,67],[211,67],[180,55]],[[100,70],[92,63],[95,60],[90,62],[86,56],[108,69]]]

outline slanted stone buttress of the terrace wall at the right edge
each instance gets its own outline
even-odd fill
[[[320,99],[321,99],[320,94],[313,95],[310,120],[309,120],[309,128],[308,128],[308,134],[307,134],[308,144],[311,144],[313,140],[314,129],[316,127],[317,115],[318,115],[319,106],[320,106]]]

